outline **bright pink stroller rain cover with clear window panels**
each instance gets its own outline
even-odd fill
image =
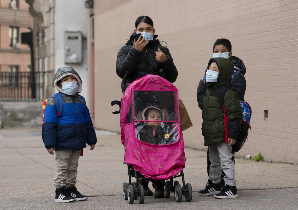
[[[148,125],[150,119],[144,119],[142,111],[149,106],[162,110],[158,127]],[[145,178],[167,180],[185,167],[178,89],[172,83],[150,74],[132,82],[122,97],[120,127],[124,161]]]

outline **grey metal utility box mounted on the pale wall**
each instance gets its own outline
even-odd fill
[[[65,63],[82,63],[82,33],[65,32]]]

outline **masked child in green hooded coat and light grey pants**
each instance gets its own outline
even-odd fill
[[[229,85],[233,71],[233,63],[226,58],[218,57],[209,60],[206,71],[207,92],[203,99],[202,134],[204,145],[209,146],[211,166],[210,179],[205,189],[198,192],[202,196],[238,197],[232,145],[235,144],[241,130],[241,107],[235,91],[228,89],[224,95],[224,105],[229,118],[228,128],[225,129],[224,111],[219,103],[221,88],[223,85]],[[225,132],[228,136],[226,141]],[[221,186],[221,166],[226,174],[225,186]]]

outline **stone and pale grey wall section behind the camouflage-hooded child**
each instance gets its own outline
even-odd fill
[[[42,95],[47,98],[56,91],[53,78],[61,66],[72,66],[78,72],[84,84],[81,94],[87,95],[87,11],[84,1],[26,2],[30,5],[30,14],[34,20],[35,66],[47,75]],[[70,43],[72,41],[75,43]]]

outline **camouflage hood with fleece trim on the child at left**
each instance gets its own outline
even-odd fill
[[[63,77],[66,77],[67,75],[72,75],[77,79],[77,85],[79,86],[79,89],[77,90],[78,93],[82,92],[82,80],[79,74],[70,66],[63,66],[60,67],[54,77],[54,87],[61,92],[62,89],[58,87],[57,82],[60,81]]]

